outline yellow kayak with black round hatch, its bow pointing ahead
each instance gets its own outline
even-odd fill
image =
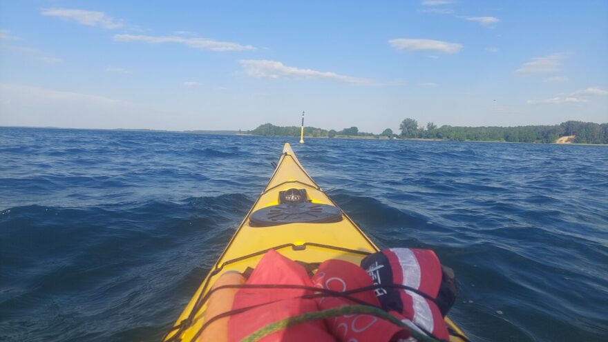
[[[302,189],[305,192],[298,193]],[[300,196],[307,199],[304,215],[280,210],[280,198],[296,201]],[[164,341],[196,341],[207,309],[202,298],[213,283],[227,271],[243,273],[255,268],[270,249],[305,263],[341,259],[356,265],[365,255],[379,251],[312,180],[289,143],[285,143],[270,181]],[[448,317],[445,321],[453,333],[450,341],[464,341],[458,336],[464,336],[464,332]]]

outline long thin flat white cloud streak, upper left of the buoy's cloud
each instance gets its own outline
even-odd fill
[[[184,38],[178,36],[145,36],[142,34],[114,34],[115,41],[143,41],[144,43],[180,43],[191,48],[205,49],[211,51],[243,51],[256,50],[254,46],[240,45],[227,41],[213,41],[205,38]]]

